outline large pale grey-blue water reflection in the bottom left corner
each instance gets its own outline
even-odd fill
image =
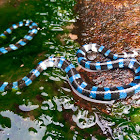
[[[41,121],[32,121],[30,118],[23,118],[11,111],[2,111],[0,115],[9,118],[11,123],[10,128],[0,125],[1,140],[41,140],[45,134],[46,127],[41,126]]]

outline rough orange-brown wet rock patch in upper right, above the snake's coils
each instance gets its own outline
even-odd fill
[[[77,4],[78,42],[96,42],[116,53],[139,48],[140,1],[89,0]]]

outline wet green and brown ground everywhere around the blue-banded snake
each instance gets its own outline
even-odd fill
[[[0,81],[20,79],[50,55],[63,55],[77,66],[76,50],[90,42],[105,45],[115,53],[139,48],[139,3],[11,0],[0,7],[0,32],[22,19],[32,19],[41,30],[25,47],[1,56]],[[7,40],[0,39],[0,44],[15,43],[27,31],[18,29]],[[99,55],[97,60],[106,58]],[[128,70],[79,72],[87,82],[98,86],[118,86],[133,79]],[[2,93],[0,140],[138,140],[139,105],[139,94],[111,105],[84,101],[72,92],[65,73],[50,68],[29,87]]]

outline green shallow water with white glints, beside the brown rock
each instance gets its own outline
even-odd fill
[[[77,35],[70,33],[79,19],[75,4],[74,0],[12,0],[0,7],[1,33],[23,19],[32,19],[40,27],[25,47],[1,56],[1,81],[20,79],[50,55],[65,56],[77,66],[80,45],[74,41]],[[17,29],[0,43],[15,43],[27,32],[27,28]],[[0,140],[137,140],[139,105],[139,95],[112,105],[84,101],[72,92],[65,73],[49,68],[29,87],[2,93]]]

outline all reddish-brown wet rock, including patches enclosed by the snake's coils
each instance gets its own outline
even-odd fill
[[[76,11],[79,15],[74,34],[80,45],[97,43],[122,53],[140,48],[140,12],[139,0],[79,0]],[[137,57],[140,61],[140,58]],[[106,61],[107,58],[97,54],[95,61]],[[121,86],[133,80],[130,70],[111,70],[104,72],[86,72],[79,70],[87,83],[96,86]],[[88,75],[88,76],[87,76]]]

